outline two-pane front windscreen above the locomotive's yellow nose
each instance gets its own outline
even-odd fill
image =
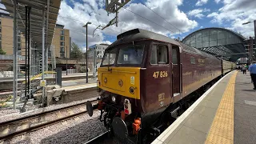
[[[121,46],[107,50],[102,60],[102,66],[113,66],[115,61],[117,61],[117,65],[140,65],[143,50],[144,46],[142,45]]]

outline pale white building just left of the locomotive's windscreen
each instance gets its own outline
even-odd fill
[[[95,44],[93,46],[90,46],[89,47],[89,50],[88,50],[88,57],[89,58],[92,58],[93,55],[94,55],[94,50],[96,50],[96,54],[97,54],[97,58],[103,58],[103,55],[104,55],[104,51],[106,50],[106,48],[110,46],[108,44]]]

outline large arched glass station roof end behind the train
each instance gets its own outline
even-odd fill
[[[238,58],[248,57],[244,46],[245,39],[232,30],[212,27],[194,31],[183,38],[182,42],[219,58],[236,62]]]

